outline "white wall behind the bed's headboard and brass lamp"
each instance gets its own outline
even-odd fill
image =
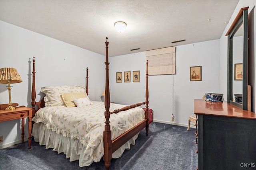
[[[86,41],[86,40],[85,40]],[[14,67],[23,82],[11,84],[12,103],[31,107],[32,63],[36,59],[36,101],[40,100],[42,86],[86,84],[86,67],[89,67],[89,97],[100,101],[98,89],[104,89],[104,61],[102,55],[40,35],[0,21],[0,68]],[[104,40],[102,48],[105,48]],[[31,64],[31,65],[30,65]],[[0,84],[0,104],[9,103],[6,84]],[[25,135],[27,133],[27,121]],[[20,143],[20,121],[0,123],[1,146]]]

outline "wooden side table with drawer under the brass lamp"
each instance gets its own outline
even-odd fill
[[[10,121],[10,120],[15,120],[15,119],[22,119],[21,123],[21,128],[22,128],[22,143],[24,143],[24,118],[28,117],[28,149],[31,148],[31,133],[32,133],[32,108],[25,107],[25,106],[20,106],[16,107],[15,110],[4,110],[4,108],[8,106],[8,104],[2,104],[0,105],[0,122],[4,121]],[[12,106],[15,106],[12,105]],[[18,104],[16,104],[18,106]]]

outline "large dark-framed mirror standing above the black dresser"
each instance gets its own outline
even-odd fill
[[[243,110],[250,110],[247,79],[248,8],[240,9],[226,33],[228,36],[228,102]]]

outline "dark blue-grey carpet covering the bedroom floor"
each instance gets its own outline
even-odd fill
[[[148,137],[142,130],[136,144],[112,159],[111,170],[195,170],[198,166],[195,129],[164,123],[151,123]],[[69,162],[66,155],[45,149],[32,141],[0,150],[0,170],[104,170],[104,162],[79,167],[78,160]]]

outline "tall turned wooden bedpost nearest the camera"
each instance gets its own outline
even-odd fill
[[[110,168],[110,161],[112,159],[112,140],[111,140],[111,130],[110,130],[110,92],[109,92],[109,74],[108,74],[108,37],[106,37],[106,84],[105,84],[105,130],[103,133],[103,141],[104,141],[104,156],[103,160],[105,162],[105,167],[108,170]]]

